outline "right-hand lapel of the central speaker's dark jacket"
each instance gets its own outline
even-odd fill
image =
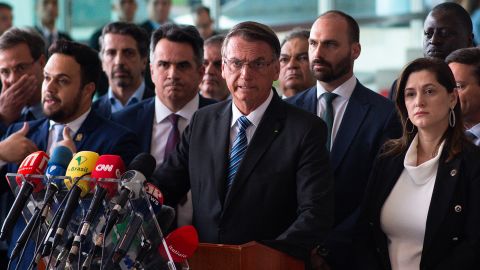
[[[285,104],[274,94],[270,105],[258,125],[251,139],[247,152],[233,181],[232,188],[225,199],[224,210],[228,207],[235,195],[249,179],[260,158],[270,147],[273,140],[281,132],[285,118]]]

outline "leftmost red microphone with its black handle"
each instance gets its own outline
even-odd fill
[[[43,189],[42,180],[30,177],[30,175],[43,174],[47,167],[48,159],[49,156],[45,152],[37,151],[28,155],[20,164],[17,173],[24,175],[26,180],[22,181],[20,176],[15,178],[15,181],[21,188],[3,222],[0,230],[0,240],[3,241],[7,238],[7,235],[10,235],[32,192],[39,192]]]

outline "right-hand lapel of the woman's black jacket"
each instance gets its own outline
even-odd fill
[[[438,231],[438,228],[442,225],[445,215],[448,213],[448,207],[451,206],[452,196],[460,175],[459,168],[461,158],[457,156],[450,162],[445,162],[448,155],[447,148],[447,145],[445,145],[442,156],[440,157],[435,186],[428,209],[427,225],[423,241],[423,254],[430,248],[432,239]]]

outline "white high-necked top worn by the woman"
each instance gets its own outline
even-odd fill
[[[432,159],[417,164],[418,134],[405,155],[402,174],[380,212],[392,270],[419,270],[428,209],[443,145]]]

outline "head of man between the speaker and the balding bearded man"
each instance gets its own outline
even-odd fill
[[[310,31],[295,29],[282,42],[278,81],[284,97],[294,96],[315,84],[308,62]]]

